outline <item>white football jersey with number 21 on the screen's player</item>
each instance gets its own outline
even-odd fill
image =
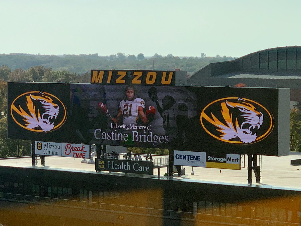
[[[120,101],[119,108],[123,115],[123,124],[130,125],[135,124],[137,125],[137,119],[139,118],[138,115],[138,107],[144,108],[145,102],[141,98],[136,98],[134,100],[122,100]]]

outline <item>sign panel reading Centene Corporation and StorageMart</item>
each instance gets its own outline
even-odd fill
[[[174,151],[174,165],[240,170],[240,155]]]

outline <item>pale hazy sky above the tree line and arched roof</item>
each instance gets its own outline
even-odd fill
[[[0,53],[240,57],[301,46],[300,9],[300,0],[0,0]]]

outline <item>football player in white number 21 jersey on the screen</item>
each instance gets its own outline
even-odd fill
[[[147,124],[153,119],[154,107],[151,108],[150,106],[147,108],[144,114],[145,102],[143,99],[138,98],[136,94],[137,92],[134,86],[126,87],[124,99],[120,101],[119,111],[116,117],[110,116],[107,106],[102,102],[98,104],[99,111],[107,115],[110,120],[116,124],[118,124],[119,120],[123,118],[123,125],[129,126],[129,128],[131,125],[137,125],[137,120],[139,118],[144,124]]]

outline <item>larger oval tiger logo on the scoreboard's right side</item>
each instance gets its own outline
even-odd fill
[[[245,98],[228,97],[209,103],[200,116],[212,137],[235,144],[255,143],[274,127],[273,115],[261,104]]]

